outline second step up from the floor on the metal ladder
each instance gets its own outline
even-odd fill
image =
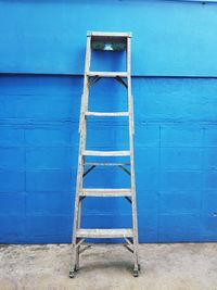
[[[80,197],[131,197],[131,190],[127,188],[84,188],[79,192]]]

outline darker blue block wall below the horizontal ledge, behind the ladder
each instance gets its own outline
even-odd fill
[[[0,118],[0,241],[69,242],[82,78],[4,75],[0,83],[0,103],[8,108]],[[111,98],[110,109],[119,110],[123,89],[113,89],[118,98],[104,90],[101,100],[92,96],[92,108],[111,106]],[[141,242],[217,239],[216,89],[212,78],[133,78]],[[61,94],[67,105],[60,104]],[[123,121],[108,127],[90,119],[90,148],[126,147],[125,128]],[[95,169],[86,182],[127,186],[120,171],[106,174]],[[87,227],[130,223],[125,200],[89,199],[84,209]]]

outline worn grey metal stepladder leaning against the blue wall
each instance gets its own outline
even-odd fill
[[[74,210],[74,229],[73,229],[73,247],[72,247],[72,265],[69,277],[75,276],[75,272],[79,268],[79,254],[90,245],[81,248],[87,238],[123,238],[124,244],[133,254],[133,276],[139,276],[140,265],[138,263],[138,225],[137,225],[137,204],[136,204],[136,187],[135,187],[135,160],[133,160],[133,109],[131,94],[131,75],[130,75],[130,33],[100,33],[89,31],[87,34],[87,50],[85,64],[85,80],[84,91],[81,97],[81,110],[79,122],[79,156],[78,156],[78,172]],[[126,51],[126,72],[91,72],[91,50],[105,51]],[[118,83],[124,85],[127,90],[127,112],[90,112],[88,111],[89,90],[101,78],[115,78]],[[129,150],[128,151],[94,151],[86,149],[87,138],[87,118],[94,117],[128,117],[129,125]],[[128,163],[87,163],[87,156],[128,156]],[[128,171],[126,165],[130,166]],[[105,188],[84,188],[85,176],[95,166],[119,166],[130,176],[129,189],[105,189]],[[132,228],[117,228],[117,229],[99,229],[99,228],[81,228],[81,203],[87,197],[124,197],[131,204],[132,210]]]

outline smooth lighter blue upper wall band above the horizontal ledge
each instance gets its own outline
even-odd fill
[[[214,3],[0,1],[0,72],[82,74],[87,30],[130,30],[135,75],[217,76],[214,27]]]

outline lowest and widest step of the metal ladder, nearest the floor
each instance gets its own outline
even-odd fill
[[[78,238],[131,238],[131,228],[114,228],[114,229],[101,229],[101,228],[81,228],[77,229],[76,236]]]

